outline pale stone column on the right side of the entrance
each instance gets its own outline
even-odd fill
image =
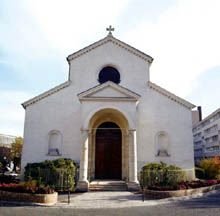
[[[136,130],[129,130],[129,190],[139,190],[137,178],[137,142]]]

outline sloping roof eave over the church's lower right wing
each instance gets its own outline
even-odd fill
[[[148,86],[151,89],[157,91],[158,93],[168,97],[170,100],[173,100],[176,103],[179,103],[179,104],[181,104],[182,106],[184,106],[184,107],[186,107],[188,109],[193,109],[194,107],[196,107],[194,104],[192,104],[192,103],[190,103],[190,102],[188,102],[188,101],[186,101],[186,100],[184,100],[184,99],[174,95],[173,93],[167,91],[166,89],[164,89],[164,88],[162,88],[162,87],[160,87],[160,86],[158,86],[158,85],[156,85],[156,84],[154,84],[154,83],[152,83],[150,81],[148,81]]]

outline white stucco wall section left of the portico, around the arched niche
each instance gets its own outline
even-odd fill
[[[51,130],[63,137],[61,157],[80,159],[80,103],[73,88],[67,87],[26,108],[22,167],[28,162],[56,159],[48,156]]]

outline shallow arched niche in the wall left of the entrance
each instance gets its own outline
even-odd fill
[[[49,133],[48,155],[61,155],[62,134],[60,131],[52,130]]]

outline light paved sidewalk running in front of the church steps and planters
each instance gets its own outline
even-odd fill
[[[59,195],[58,202],[50,206],[50,208],[74,208],[74,209],[100,209],[100,208],[128,208],[128,207],[144,207],[158,206],[168,203],[178,203],[182,201],[192,202],[207,199],[207,197],[220,198],[220,191],[210,191],[206,194],[197,194],[184,197],[172,197],[161,200],[142,200],[142,194],[132,193],[128,191],[111,191],[111,192],[87,192],[73,193],[70,196],[70,204],[68,204],[68,195]],[[45,206],[37,203],[26,202],[7,202],[0,201],[0,206]],[[46,206],[45,206],[46,207]]]

